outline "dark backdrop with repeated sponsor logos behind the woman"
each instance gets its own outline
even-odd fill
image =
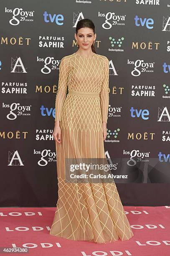
[[[0,206],[55,206],[52,133],[61,58],[80,19],[109,59],[107,159],[124,205],[170,201],[170,2],[0,2]]]

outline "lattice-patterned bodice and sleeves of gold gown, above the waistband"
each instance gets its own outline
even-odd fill
[[[95,60],[95,58],[93,58],[96,56],[98,56],[99,61],[98,59]],[[75,57],[77,57],[76,60]],[[89,59],[90,66],[88,67],[86,61]],[[85,68],[84,64],[86,64]],[[91,74],[90,76],[89,72]],[[99,54],[94,54],[94,56],[86,58],[81,57],[76,53],[64,56],[60,62],[58,91],[56,93],[55,101],[55,121],[61,120],[61,112],[63,102],[66,98],[67,86],[71,90],[78,89],[79,91],[79,84],[81,82],[83,82],[83,84],[81,84],[82,92],[100,92],[102,121],[107,123],[109,108],[109,60],[106,56]]]

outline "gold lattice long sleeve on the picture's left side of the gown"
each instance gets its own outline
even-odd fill
[[[69,61],[65,57],[61,59],[59,67],[58,91],[55,101],[55,121],[61,120],[61,111],[67,92],[67,81],[69,76]]]

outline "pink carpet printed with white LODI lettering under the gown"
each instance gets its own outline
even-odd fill
[[[128,241],[119,240],[108,244],[72,241],[49,235],[55,210],[55,207],[1,208],[0,247],[29,248],[29,253],[13,255],[170,255],[170,206],[124,206],[134,237]]]

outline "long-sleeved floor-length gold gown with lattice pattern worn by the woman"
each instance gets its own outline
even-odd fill
[[[66,96],[67,86],[69,93]],[[58,202],[50,235],[110,243],[133,235],[115,183],[66,183],[65,158],[106,158],[102,121],[109,107],[109,60],[94,54],[64,56],[59,67],[55,120]]]

